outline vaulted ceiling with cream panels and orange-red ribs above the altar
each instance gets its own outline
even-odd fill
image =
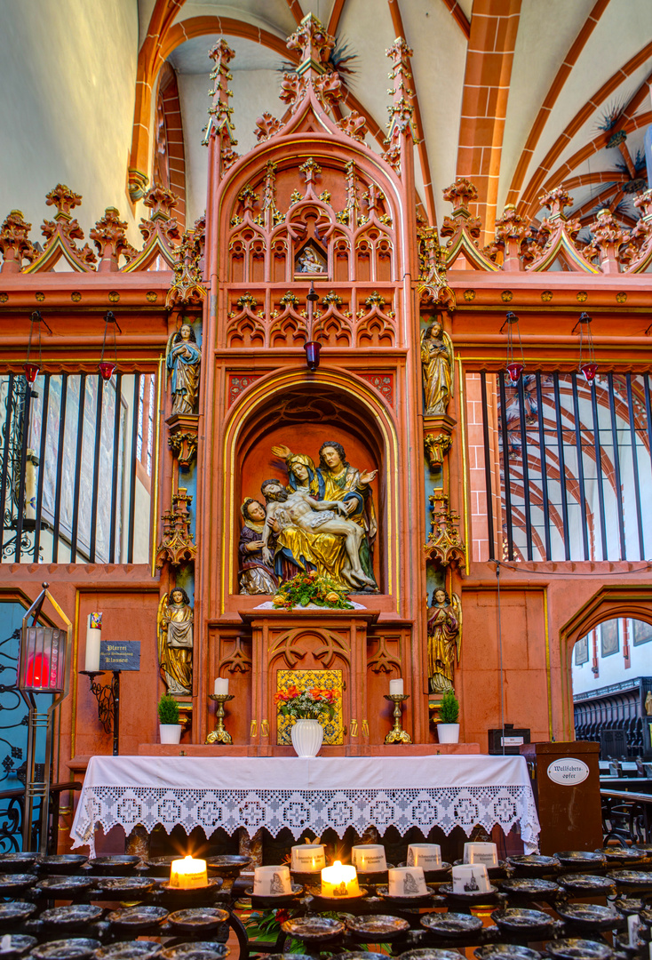
[[[211,61],[218,36],[231,63],[239,151],[252,147],[256,117],[281,117],[285,40],[308,12],[338,38],[348,96],[343,112],[367,117],[372,149],[383,149],[387,70],[396,36],[412,48],[417,187],[431,223],[448,212],[442,190],[455,177],[477,185],[488,234],[505,204],[541,214],[539,197],[563,185],[588,225],[602,207],[631,226],[645,186],[644,133],[652,120],[650,0],[138,0],[139,82],[174,67],[186,150],[189,213],[203,209]],[[136,93],[131,165],[146,144]],[[147,104],[145,104],[147,107]],[[141,104],[141,113],[144,113]],[[142,167],[141,167],[142,169]],[[585,231],[588,238],[588,229]]]

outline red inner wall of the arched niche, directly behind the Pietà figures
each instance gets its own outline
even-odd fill
[[[292,453],[311,456],[319,465],[319,447],[337,441],[346,451],[346,459],[360,470],[378,469],[371,484],[378,534],[374,546],[374,573],[384,592],[384,441],[378,423],[369,416],[355,395],[342,394],[334,385],[297,383],[267,397],[241,431],[235,453],[234,492],[240,506],[245,497],[262,500],[261,484],[270,477],[287,484],[285,463],[274,456],[273,446],[285,445]],[[236,544],[237,545],[237,544]],[[237,582],[233,585],[237,592]]]

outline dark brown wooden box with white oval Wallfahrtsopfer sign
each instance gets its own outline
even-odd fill
[[[543,854],[602,846],[599,750],[586,740],[521,747],[533,778]]]

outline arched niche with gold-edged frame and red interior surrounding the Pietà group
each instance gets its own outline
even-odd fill
[[[272,455],[271,447],[285,444],[293,452],[308,453],[318,460],[319,446],[329,440],[344,446],[347,460],[355,468],[378,468],[371,485],[379,527],[374,571],[381,592],[387,598],[397,595],[400,545],[394,532],[399,476],[393,416],[383,397],[366,381],[332,368],[313,374],[297,369],[277,371],[261,377],[239,399],[225,424],[221,462],[232,466],[224,475],[223,503],[234,521],[230,534],[222,540],[222,596],[230,594],[235,599],[239,595],[241,504],[246,496],[262,499],[264,480],[286,479],[285,463]]]

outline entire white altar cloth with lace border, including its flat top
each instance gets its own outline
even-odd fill
[[[479,824],[521,827],[526,852],[538,849],[539,818],[523,756],[93,756],[71,830],[73,847],[94,853],[95,828],[180,825],[276,835],[306,828],[321,835],[370,826],[446,834]]]

